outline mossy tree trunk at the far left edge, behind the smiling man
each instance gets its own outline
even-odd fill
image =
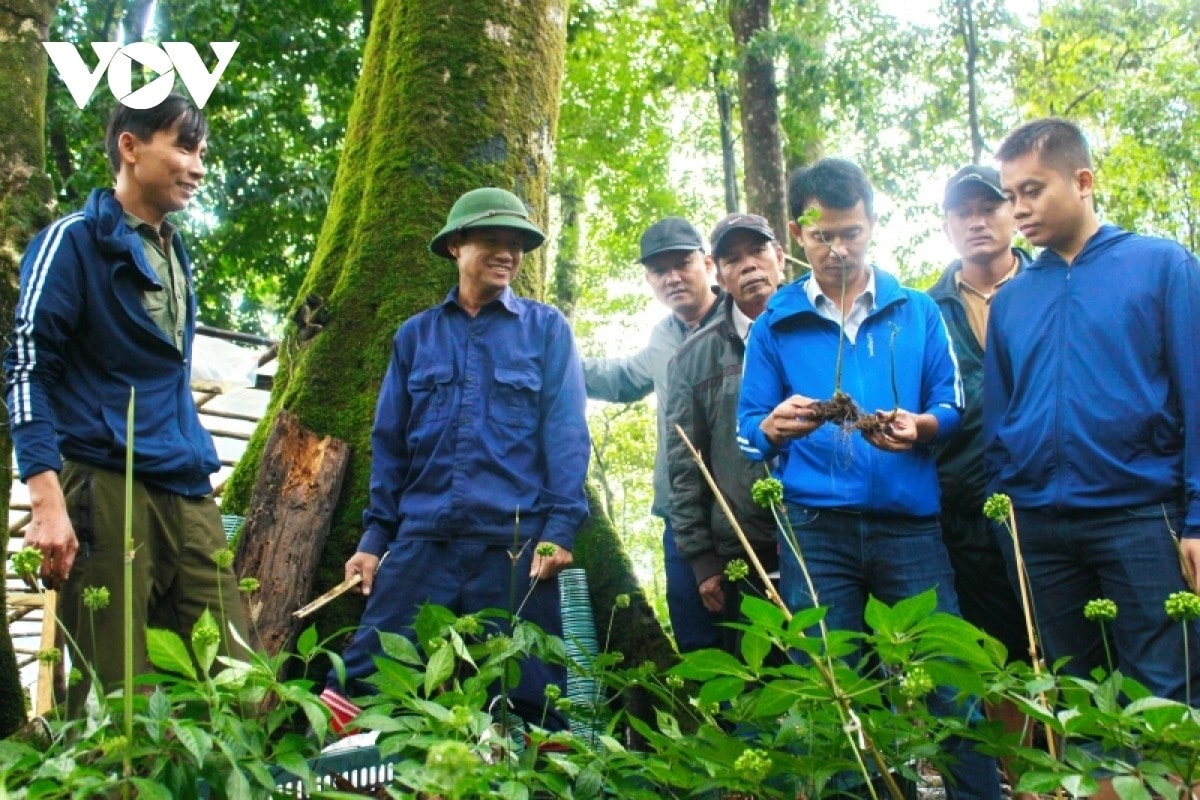
[[[56,0],[8,0],[0,5],[0,338],[12,333],[20,254],[49,222],[50,181],[46,162],[46,40]],[[8,518],[12,486],[12,438],[8,411],[0,405],[0,519]],[[0,543],[8,542],[8,525]],[[4,584],[0,583],[0,601]],[[0,738],[25,722],[25,700],[17,660],[8,636],[7,615],[0,616]]]

